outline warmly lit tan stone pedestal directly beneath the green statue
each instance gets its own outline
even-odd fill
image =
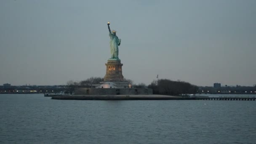
[[[105,82],[122,82],[123,74],[122,74],[122,66],[120,59],[109,59],[105,64],[106,75],[104,77]]]

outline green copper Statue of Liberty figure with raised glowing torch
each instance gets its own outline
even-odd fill
[[[112,30],[112,33],[111,33],[109,24],[110,23],[108,22],[107,27],[109,28],[111,59],[119,59],[118,58],[118,46],[121,43],[121,39],[118,39],[115,30]]]

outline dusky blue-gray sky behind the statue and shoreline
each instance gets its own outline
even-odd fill
[[[108,21],[135,83],[256,84],[256,0],[0,0],[0,84],[104,77]]]

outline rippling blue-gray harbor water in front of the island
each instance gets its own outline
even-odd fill
[[[77,101],[0,94],[0,143],[255,144],[256,101]]]

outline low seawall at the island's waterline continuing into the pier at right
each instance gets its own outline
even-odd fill
[[[256,101],[256,97],[182,97],[165,95],[52,95],[52,99],[62,100],[219,100]]]

